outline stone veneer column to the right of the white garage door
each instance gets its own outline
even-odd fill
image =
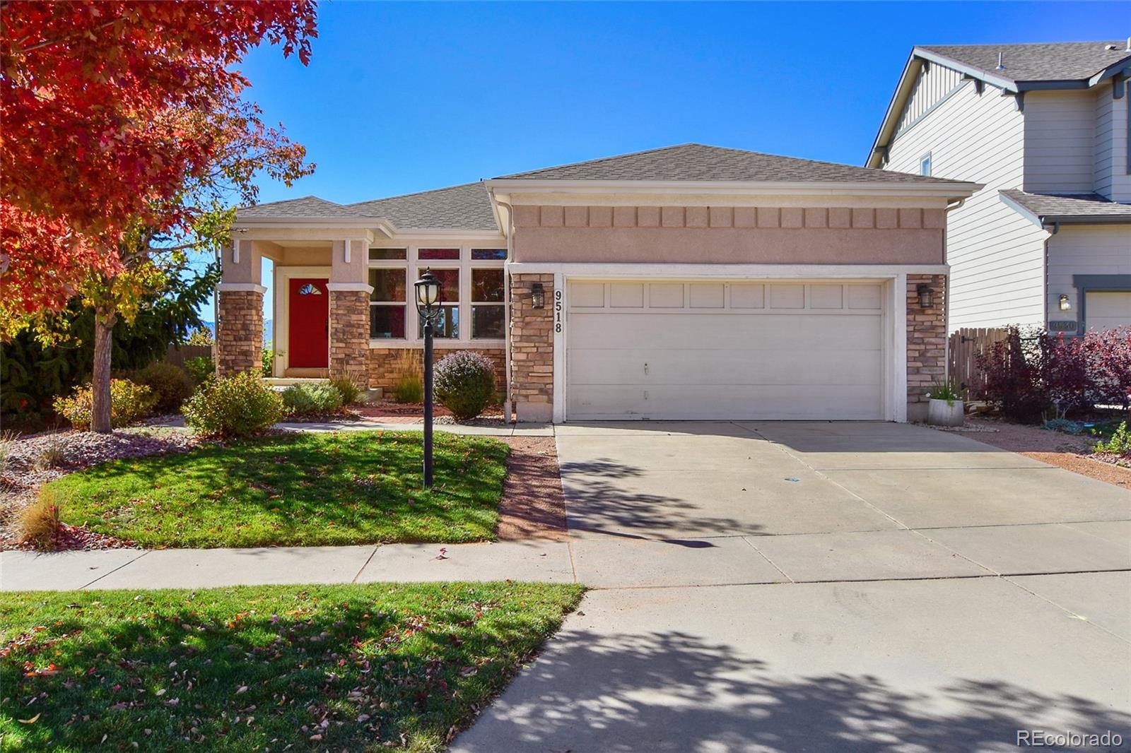
[[[933,305],[918,304],[918,286],[931,286]],[[947,276],[907,276],[907,421],[925,421],[926,393],[947,373]]]

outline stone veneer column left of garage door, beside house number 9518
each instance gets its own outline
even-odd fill
[[[546,303],[535,309],[532,289],[545,288]],[[510,278],[510,395],[518,421],[553,419],[554,335],[553,275]]]

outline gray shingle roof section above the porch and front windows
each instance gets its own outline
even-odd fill
[[[491,199],[483,183],[406,193],[387,199],[335,204],[318,197],[271,201],[240,209],[240,219],[287,218],[387,219],[398,230],[498,231]]]

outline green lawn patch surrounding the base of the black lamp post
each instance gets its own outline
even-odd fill
[[[143,546],[478,542],[494,537],[508,448],[420,432],[295,433],[104,464],[49,484],[62,519]]]

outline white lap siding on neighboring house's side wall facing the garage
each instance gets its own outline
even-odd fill
[[[998,194],[1021,185],[1024,146],[1025,118],[1013,97],[990,86],[978,94],[966,81],[889,147],[887,170],[918,173],[930,152],[936,178],[985,184],[947,217],[951,331],[1044,320],[1047,233]]]

